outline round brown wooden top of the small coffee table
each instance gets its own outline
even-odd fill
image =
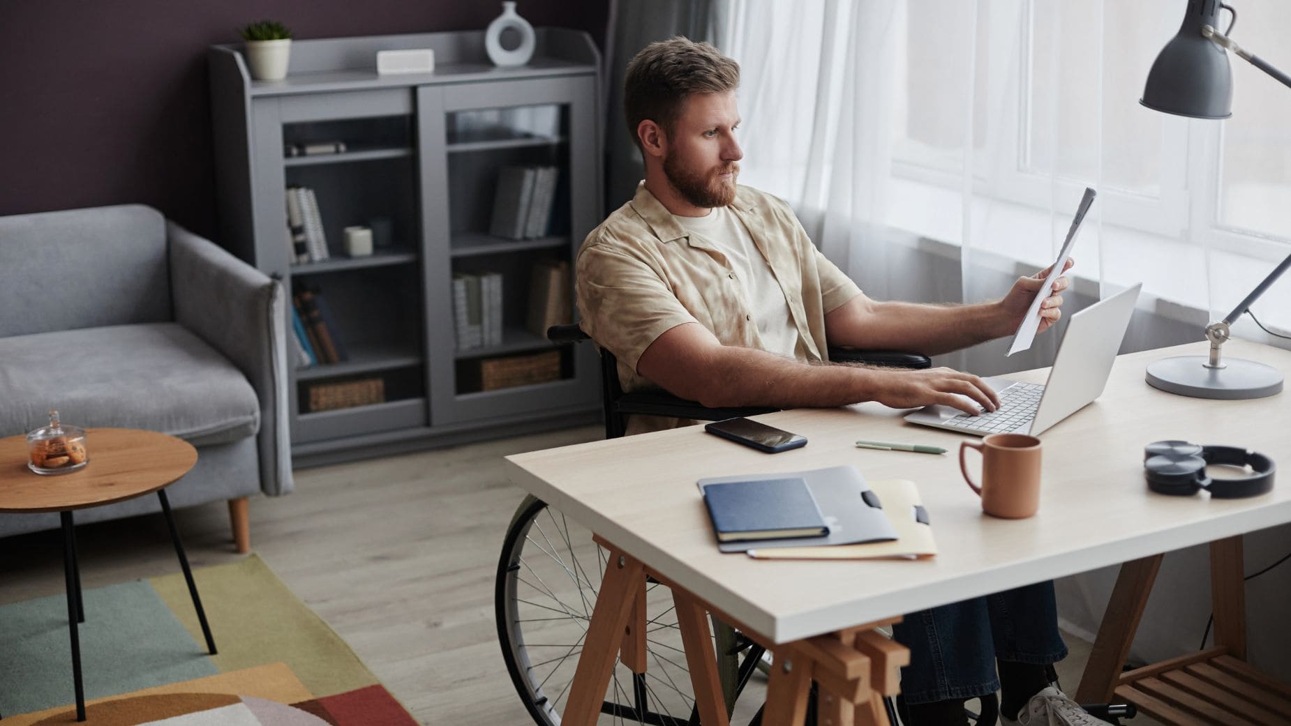
[[[41,476],[27,468],[25,436],[0,438],[0,512],[66,512],[124,502],[169,486],[198,463],[174,436],[134,428],[88,428],[89,463]]]

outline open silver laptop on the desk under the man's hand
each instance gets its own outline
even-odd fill
[[[986,378],[986,384],[999,395],[999,407],[994,411],[970,415],[936,405],[908,414],[905,420],[975,436],[1038,436],[1103,393],[1141,286],[1140,282],[1072,316],[1043,386]]]

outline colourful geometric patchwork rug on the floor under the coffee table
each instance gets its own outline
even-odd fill
[[[416,726],[262,560],[194,576],[213,656],[179,574],[83,593],[86,723]],[[0,606],[0,723],[75,723],[72,700],[65,597]]]

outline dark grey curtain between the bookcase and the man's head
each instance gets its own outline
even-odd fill
[[[718,44],[717,13],[722,0],[611,0],[605,37],[605,211],[613,211],[636,192],[644,178],[640,152],[627,135],[624,117],[624,72],[642,48],[684,35]],[[720,44],[718,44],[720,46]]]

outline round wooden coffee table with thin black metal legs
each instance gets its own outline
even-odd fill
[[[146,494],[158,495],[170,529],[174,552],[179,556],[188,594],[207,637],[207,650],[216,654],[216,641],[201,609],[198,585],[179,542],[179,530],[170,515],[165,487],[179,481],[198,463],[198,450],[174,436],[133,428],[89,428],[85,431],[89,466],[57,476],[40,476],[27,468],[27,442],[23,436],[0,438],[0,513],[58,512],[63,530],[63,574],[67,584],[67,624],[72,645],[72,680],[76,687],[76,721],[85,721],[85,691],[81,685],[77,623],[85,622],[81,603],[80,566],[76,560],[76,527],[72,512],[125,502]]]

